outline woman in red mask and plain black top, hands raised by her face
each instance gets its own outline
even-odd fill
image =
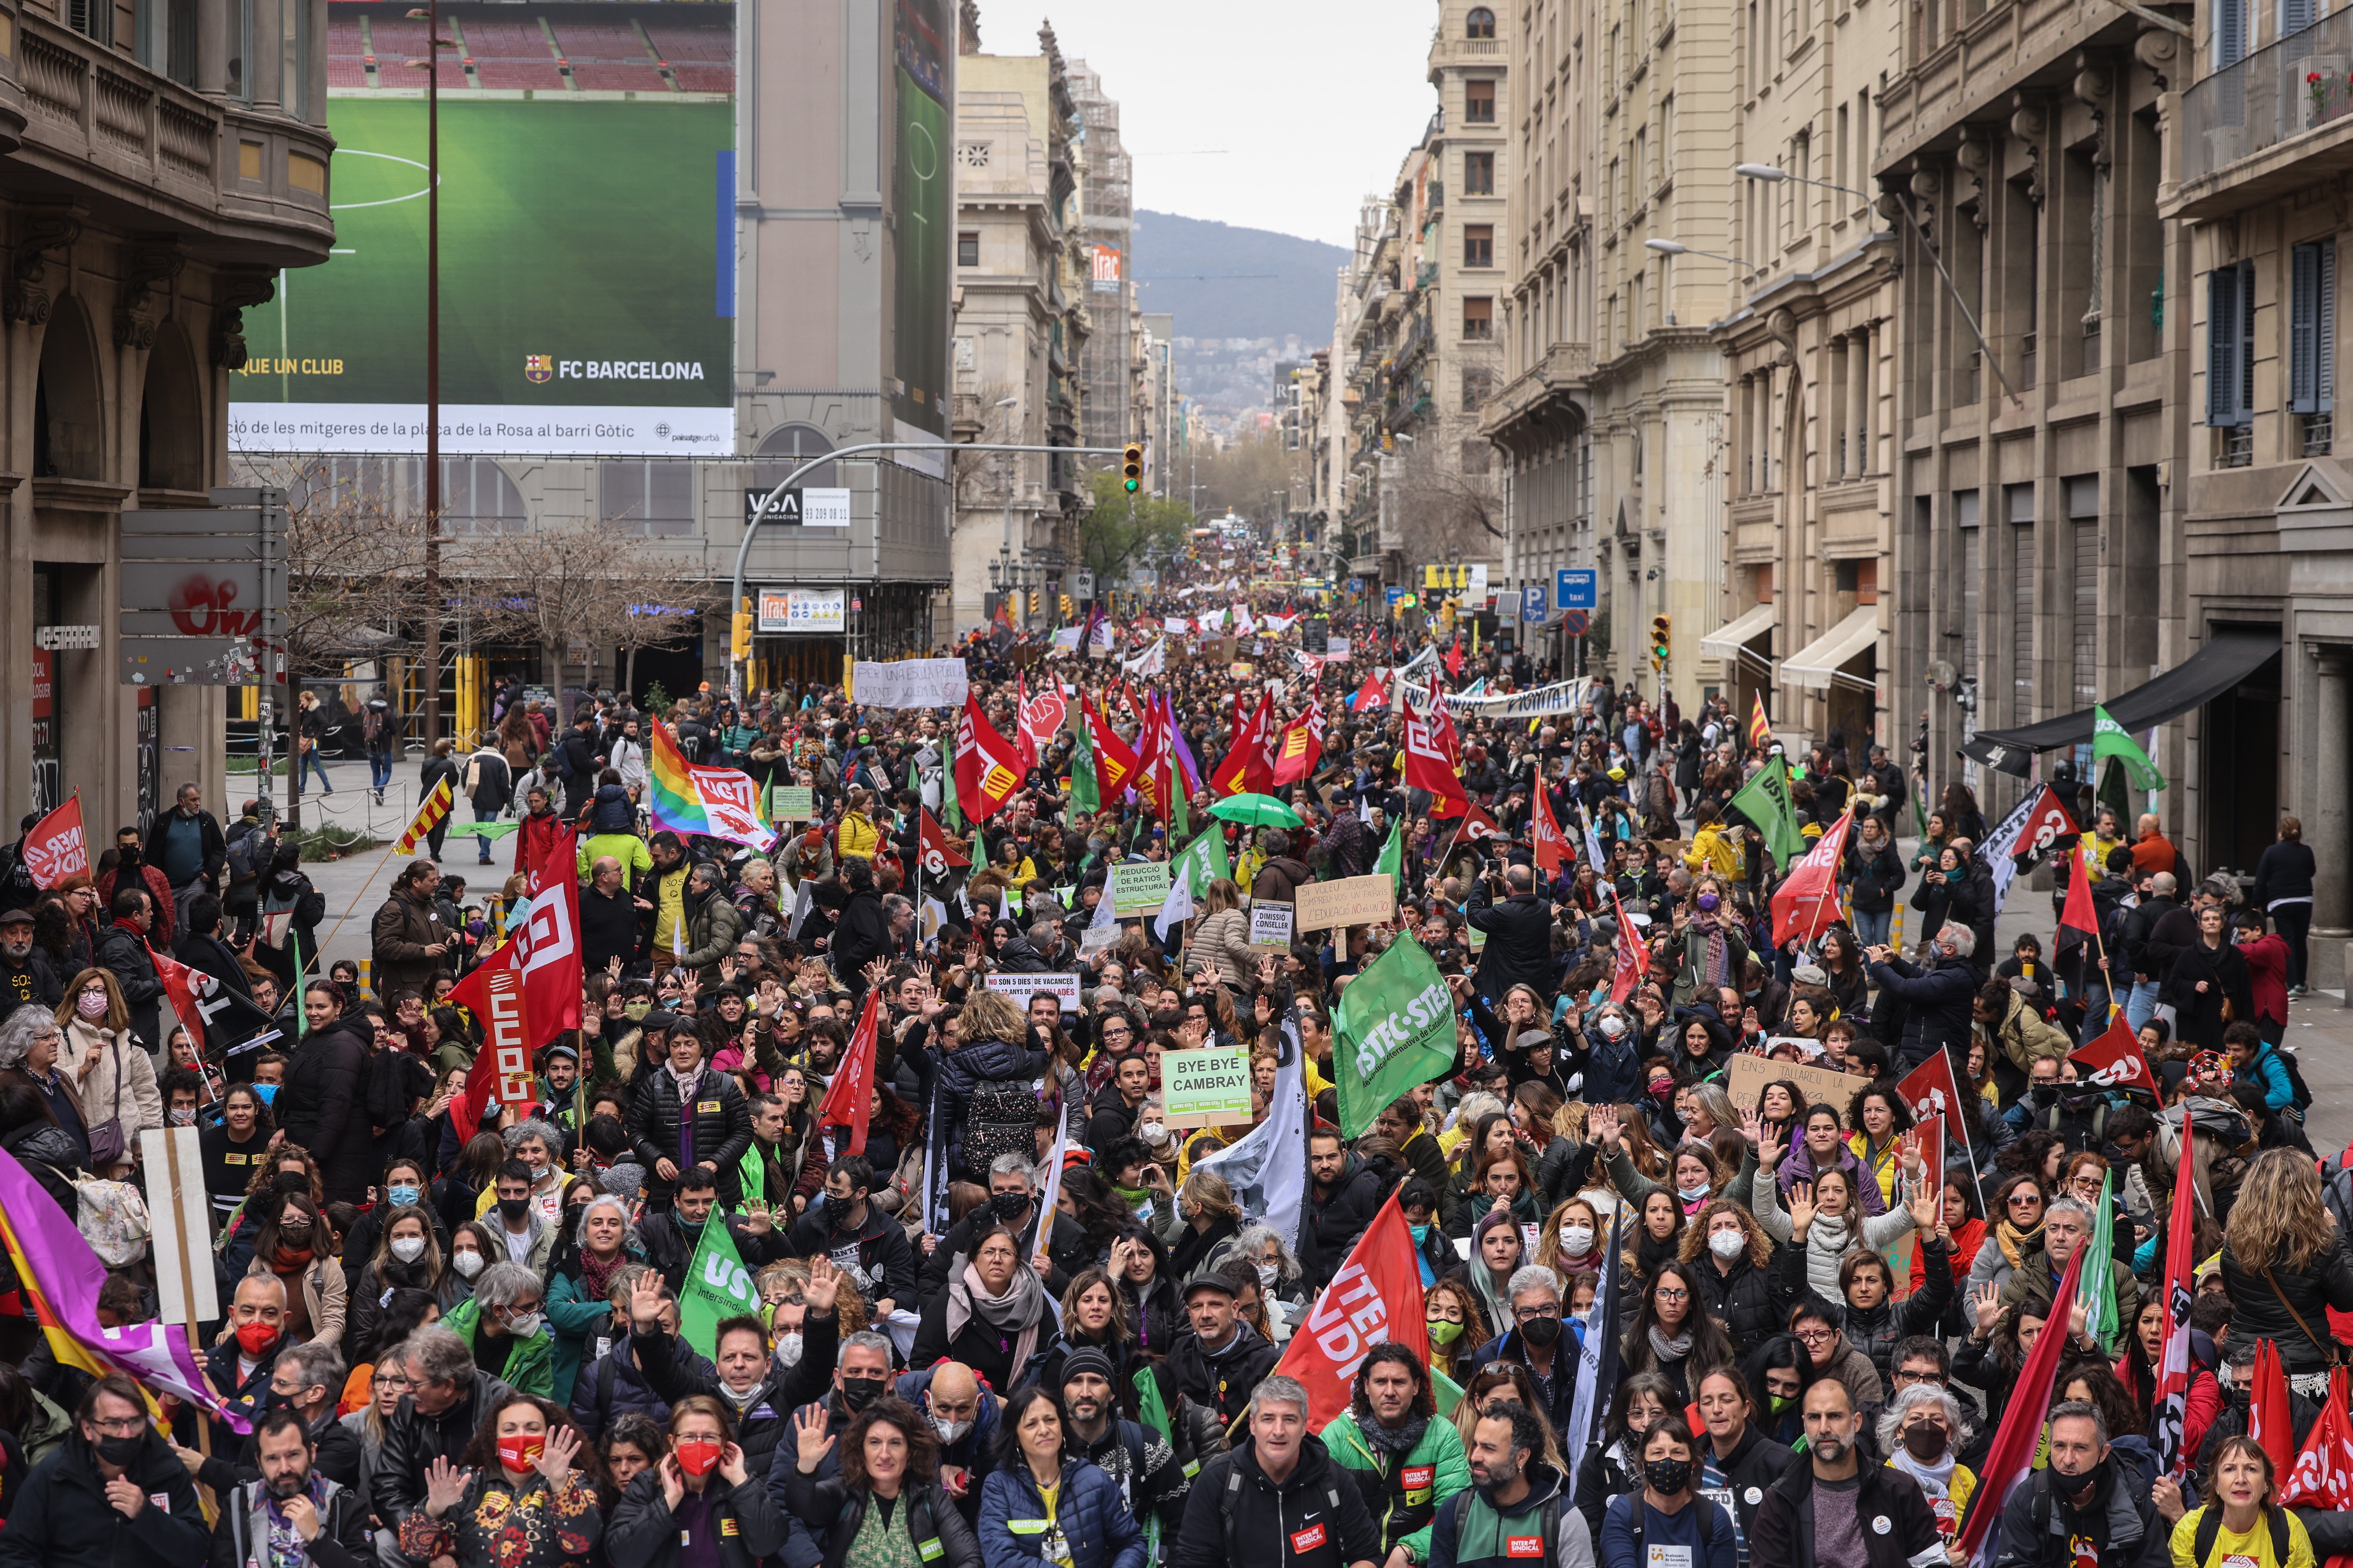
[[[612,1568],[755,1568],[784,1552],[786,1514],[739,1436],[722,1399],[694,1394],[671,1410],[671,1453],[612,1509]]]

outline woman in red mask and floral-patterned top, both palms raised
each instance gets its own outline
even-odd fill
[[[456,1465],[433,1458],[424,1507],[400,1521],[400,1549],[456,1568],[567,1568],[605,1533],[595,1472],[595,1450],[562,1406],[508,1394]]]

